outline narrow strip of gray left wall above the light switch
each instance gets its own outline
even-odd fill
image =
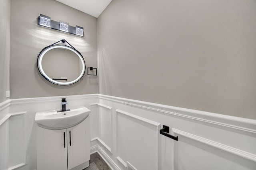
[[[0,102],[10,89],[10,0],[0,0]],[[8,99],[8,98],[7,98]]]

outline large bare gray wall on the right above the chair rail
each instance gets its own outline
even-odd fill
[[[112,0],[99,93],[256,119],[255,0]]]

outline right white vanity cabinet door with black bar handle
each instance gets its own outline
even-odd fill
[[[87,117],[74,127],[67,129],[68,170],[90,160],[90,121]],[[88,142],[89,141],[89,142]]]

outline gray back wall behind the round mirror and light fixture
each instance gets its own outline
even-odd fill
[[[44,14],[55,21],[84,27],[84,37],[39,26]],[[66,39],[82,53],[87,66],[97,66],[97,19],[55,0],[11,0],[10,93],[11,98],[30,98],[98,93],[98,81],[87,72],[76,84],[58,86],[38,72],[37,54],[46,46]],[[65,68],[63,68],[65,69]]]

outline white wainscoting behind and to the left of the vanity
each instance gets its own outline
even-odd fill
[[[67,109],[79,106],[90,109],[90,104],[98,103],[98,94],[12,99],[0,103],[0,170],[37,168],[36,112],[61,109],[62,98],[68,101]],[[98,114],[94,111],[92,115]],[[97,136],[94,131],[91,134]]]

